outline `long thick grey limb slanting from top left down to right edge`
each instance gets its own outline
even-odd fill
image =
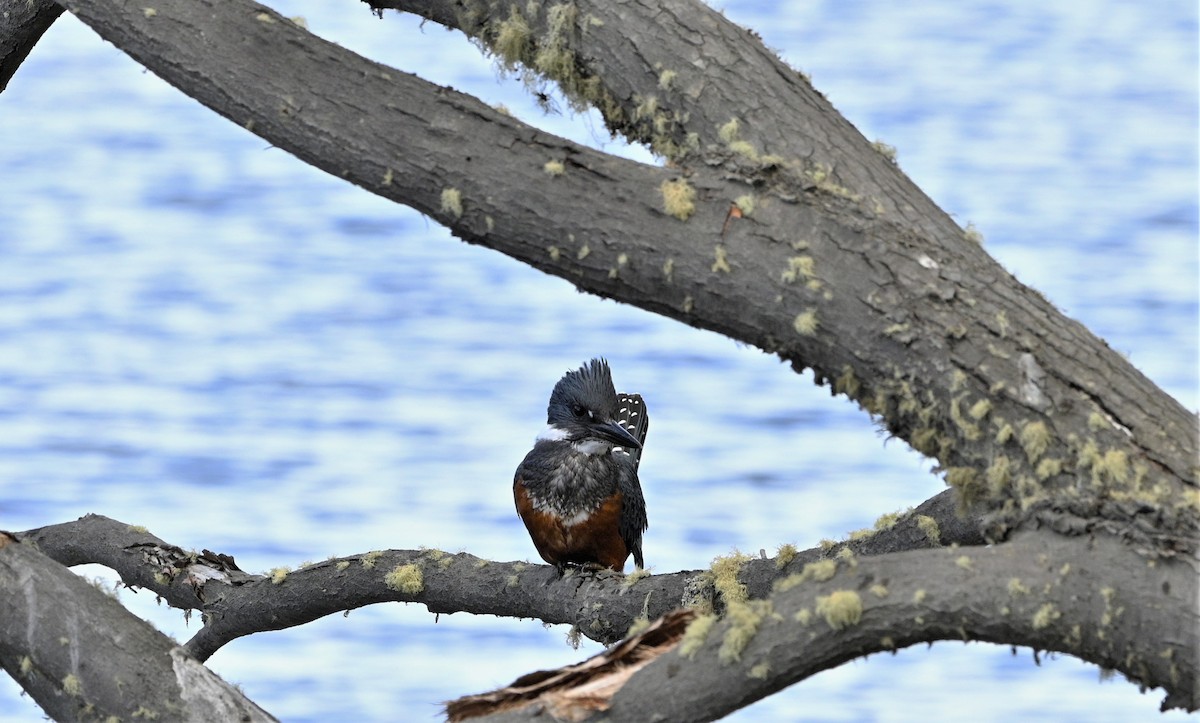
[[[218,113],[468,241],[814,368],[936,456],[964,504],[988,513],[992,537],[1022,524],[1068,533],[1099,525],[1147,551],[1195,549],[1195,417],[960,232],[913,226],[871,205],[869,191],[834,183],[803,155],[816,153],[808,142],[776,149],[778,159],[736,144],[680,156],[689,199],[677,172],[541,133],[248,0],[173,0],[152,14],[102,0],[67,6]],[[475,20],[485,41],[500,37],[497,24],[514,11],[496,12]],[[562,49],[564,37],[590,32],[583,16],[571,17],[529,42]],[[725,53],[738,37],[757,42],[733,30],[689,37],[704,42],[662,52],[688,58]],[[676,101],[679,118],[707,102],[696,92]],[[721,115],[754,109],[764,127],[811,110],[749,95],[722,102]],[[858,143],[821,148],[852,154]],[[901,181],[870,190],[892,183]]]

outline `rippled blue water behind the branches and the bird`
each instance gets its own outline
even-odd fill
[[[355,4],[274,6],[649,159],[595,118],[544,115],[455,34]],[[1196,407],[1194,4],[725,7],[895,145],[1022,281]],[[71,18],[0,94],[0,527],[101,513],[250,570],[418,545],[535,558],[511,473],[550,387],[595,354],[649,404],[646,556],[660,572],[842,537],[942,489],[778,360],[454,240]],[[180,640],[194,631],[152,596],[122,599]],[[384,605],[236,641],[211,664],[289,722],[430,719],[440,700],[598,650],[564,633]],[[41,718],[0,686],[0,717]],[[1027,651],[940,644],[844,665],[738,718],[1133,721],[1160,719],[1159,700],[1069,658],[1036,668]]]

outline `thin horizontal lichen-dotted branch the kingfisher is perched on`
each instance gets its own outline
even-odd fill
[[[949,508],[944,509],[946,518],[952,518]],[[937,514],[932,507],[926,512]],[[859,551],[894,551],[950,542],[937,533],[930,536],[928,531],[936,530],[938,522],[929,518],[930,527],[917,521],[920,516],[928,515],[913,512],[875,534],[844,545],[791,551],[782,561],[750,561],[738,570],[738,582],[751,597],[763,597],[776,579],[838,554],[846,545]],[[947,521],[943,518],[942,524]],[[685,599],[691,604],[724,605],[712,575],[702,570],[628,578],[569,572],[560,576],[550,566],[492,562],[466,552],[378,550],[256,575],[239,569],[229,555],[186,551],[143,527],[102,515],[85,515],[18,537],[61,564],[103,564],[131,587],[150,590],[174,608],[199,610],[204,627],[186,647],[200,661],[242,635],[386,602],[422,603],[434,614],[472,613],[565,623],[605,644],[624,638],[636,620],[659,617]]]

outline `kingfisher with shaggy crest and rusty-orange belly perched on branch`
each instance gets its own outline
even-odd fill
[[[517,467],[512,496],[538,554],[568,564],[641,568],[646,501],[637,464],[649,419],[637,394],[617,394],[605,359],[554,384],[546,429]]]

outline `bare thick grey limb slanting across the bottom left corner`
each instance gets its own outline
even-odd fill
[[[55,721],[274,721],[169,638],[0,533],[0,665]]]

